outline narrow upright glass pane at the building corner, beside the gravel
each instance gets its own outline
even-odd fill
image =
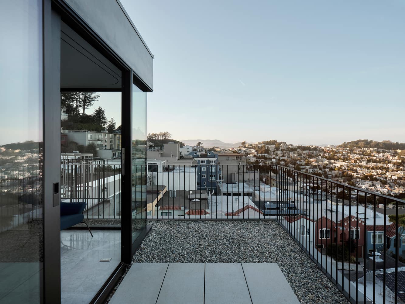
[[[146,227],[146,93],[132,85],[132,242]]]

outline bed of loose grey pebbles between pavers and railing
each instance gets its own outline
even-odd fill
[[[301,303],[349,303],[274,221],[148,221],[148,225],[153,227],[132,263],[277,263]]]

